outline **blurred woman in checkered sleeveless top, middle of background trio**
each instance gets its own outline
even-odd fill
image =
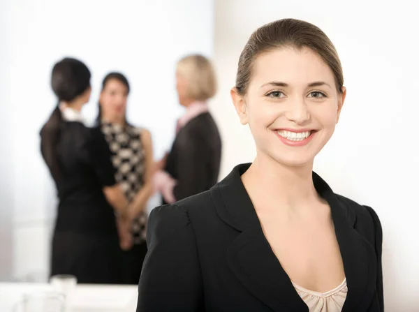
[[[106,75],[102,83],[97,121],[112,152],[112,163],[117,170],[115,179],[130,202],[128,226],[131,227],[132,247],[127,246],[121,251],[121,283],[138,284],[147,253],[146,206],[152,195],[153,149],[149,131],[126,121],[128,94],[129,83],[124,75]],[[124,226],[124,223],[119,225]]]

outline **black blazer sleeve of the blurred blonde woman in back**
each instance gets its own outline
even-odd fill
[[[193,128],[191,128],[193,129]],[[176,200],[205,191],[208,147],[199,129],[182,133],[177,146],[177,184],[173,188]]]

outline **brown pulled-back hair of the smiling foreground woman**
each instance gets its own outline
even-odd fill
[[[307,47],[316,52],[332,70],[337,91],[341,93],[344,74],[336,48],[328,36],[309,22],[287,18],[265,24],[251,34],[240,54],[237,69],[235,87],[240,95],[247,94],[256,57],[281,47],[293,47],[297,50]]]

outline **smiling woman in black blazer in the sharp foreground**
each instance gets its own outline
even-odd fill
[[[279,20],[251,35],[230,93],[256,159],[152,211],[137,311],[383,311],[378,216],[313,172],[343,82],[313,24]]]

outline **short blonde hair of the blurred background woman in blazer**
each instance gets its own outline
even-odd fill
[[[176,71],[188,81],[189,98],[206,101],[216,94],[215,70],[203,55],[193,54],[180,59]]]

